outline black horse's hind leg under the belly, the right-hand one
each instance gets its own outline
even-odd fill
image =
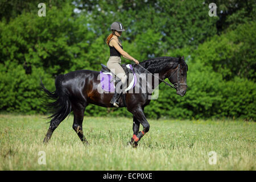
[[[74,113],[73,129],[76,131],[82,143],[89,144],[84,136],[84,133],[82,133],[82,121],[84,120],[85,107],[86,106],[83,106],[81,104],[76,104],[76,106],[73,106],[73,113]]]

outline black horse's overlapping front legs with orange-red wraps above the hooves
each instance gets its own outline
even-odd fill
[[[147,122],[147,119],[143,113],[143,109],[141,106],[138,106],[138,107],[133,107],[133,108],[127,108],[129,109],[129,111],[133,114],[133,117],[135,118],[134,121],[137,121],[137,122],[134,122],[135,125],[134,125],[134,135],[133,135],[133,142],[137,145],[139,140],[141,140],[141,138],[148,132],[148,130],[150,129],[150,125],[149,123]],[[138,125],[138,122],[141,123],[141,125],[143,126],[143,130],[139,131],[139,125]],[[137,123],[137,124],[136,124]]]

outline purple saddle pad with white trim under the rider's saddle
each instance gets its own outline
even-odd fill
[[[131,67],[130,64],[129,68],[133,71],[133,68]],[[127,65],[126,65],[127,66]],[[137,82],[137,77],[133,71],[133,76],[134,76],[134,83],[133,86],[131,86],[131,88],[134,88],[136,82]],[[106,92],[115,92],[115,86],[114,86],[114,81],[110,82],[112,80],[112,73],[108,72],[100,72],[100,79],[101,79],[101,88],[102,90],[105,90]],[[130,87],[130,85],[128,86],[128,88]],[[131,89],[130,88],[130,89]]]

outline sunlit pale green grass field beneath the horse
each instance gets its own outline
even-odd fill
[[[85,117],[84,146],[65,119],[50,142],[43,115],[0,115],[0,170],[255,170],[256,123],[153,120],[138,148],[131,118]],[[39,164],[39,151],[46,164]],[[208,152],[215,151],[216,164]]]

